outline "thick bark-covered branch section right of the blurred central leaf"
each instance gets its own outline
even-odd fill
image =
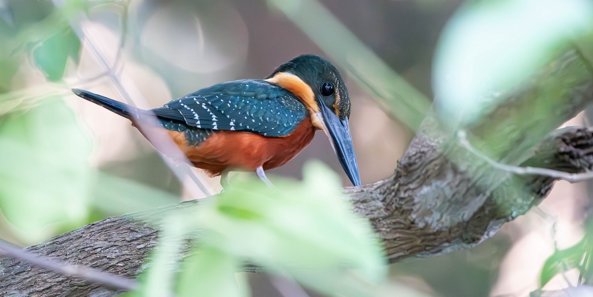
[[[511,165],[591,168],[582,158],[587,150],[579,152],[580,159],[566,163],[566,156],[559,154],[578,148],[552,149],[551,143],[559,144],[558,140],[545,139],[593,98],[593,76],[578,52],[563,53],[528,83],[506,93],[506,101],[463,127],[474,146]],[[549,192],[552,180],[494,170],[457,140],[455,130],[429,116],[400,159],[393,182],[379,186],[386,199],[381,205],[385,213],[372,219],[392,261],[474,246]]]

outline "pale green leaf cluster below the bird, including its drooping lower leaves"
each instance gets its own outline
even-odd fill
[[[153,292],[154,286],[160,286],[160,293],[173,289],[171,270],[180,243],[199,230],[200,247],[184,261],[183,267],[192,268],[177,276],[178,293],[195,288],[228,292],[228,273],[249,262],[288,273],[329,295],[368,295],[387,272],[374,231],[366,219],[352,214],[335,173],[318,163],[304,170],[302,183],[276,180],[276,188],[255,177],[235,179],[229,191],[203,202],[197,213],[166,218],[164,239],[141,292]],[[212,267],[219,267],[216,273]]]

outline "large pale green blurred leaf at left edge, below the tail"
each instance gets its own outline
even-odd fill
[[[2,118],[0,208],[24,240],[87,222],[90,152],[90,140],[59,98]]]

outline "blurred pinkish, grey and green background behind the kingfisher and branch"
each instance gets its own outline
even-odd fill
[[[129,121],[72,95],[70,88],[154,108],[218,82],[264,78],[302,53],[318,54],[345,77],[362,182],[389,177],[426,112],[427,98],[433,98],[439,34],[460,5],[0,0],[0,237],[28,246],[111,215],[221,191],[218,178],[196,170],[191,173],[203,188],[184,188],[181,183],[191,178],[183,165],[162,159]],[[347,50],[359,61],[342,55]],[[364,69],[374,63],[382,68]],[[393,117],[397,108],[386,111],[391,85],[381,92],[365,83],[385,85],[385,73],[409,83],[397,93],[417,106],[420,117],[402,120]],[[323,133],[268,175],[272,181],[300,179],[311,159],[329,164],[350,185]],[[541,267],[554,249],[582,238],[586,189],[583,183],[558,182],[538,209],[483,244],[393,264],[390,279],[430,296],[526,296],[538,289]],[[248,277],[253,296],[303,296],[298,290],[286,295],[273,277]],[[576,277],[576,270],[558,275],[546,288],[575,285]]]

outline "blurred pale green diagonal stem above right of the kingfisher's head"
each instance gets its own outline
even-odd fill
[[[416,130],[430,101],[383,62],[316,0],[269,0],[359,85],[379,99],[394,118]],[[307,15],[307,17],[303,17]]]

